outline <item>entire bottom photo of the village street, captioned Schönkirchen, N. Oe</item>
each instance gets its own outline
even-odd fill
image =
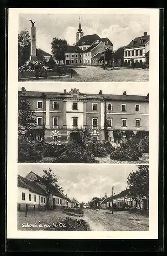
[[[148,231],[149,165],[19,164],[18,230]]]

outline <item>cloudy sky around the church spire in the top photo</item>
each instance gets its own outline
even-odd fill
[[[108,37],[113,49],[126,46],[132,39],[142,36],[144,32],[149,35],[149,15],[144,14],[19,14],[19,32],[28,29],[29,19],[37,21],[36,43],[37,47],[51,53],[53,37],[66,39],[69,45],[76,42],[79,16],[84,35],[97,34],[101,38]]]

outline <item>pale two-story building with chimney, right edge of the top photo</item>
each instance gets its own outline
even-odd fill
[[[147,63],[150,48],[150,36],[144,32],[143,36],[136,37],[124,47],[124,62],[127,65],[132,63]]]

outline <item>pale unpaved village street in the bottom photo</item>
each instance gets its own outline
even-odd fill
[[[129,212],[83,209],[92,231],[147,231],[149,218]]]

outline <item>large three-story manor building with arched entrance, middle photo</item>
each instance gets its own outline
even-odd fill
[[[149,130],[149,94],[122,95],[81,93],[78,89],[67,92],[37,92],[22,88],[19,97],[25,97],[35,110],[36,137],[50,143],[68,142],[80,137],[80,129],[87,127],[92,140],[113,142],[114,130]],[[106,138],[105,131],[108,135]]]

